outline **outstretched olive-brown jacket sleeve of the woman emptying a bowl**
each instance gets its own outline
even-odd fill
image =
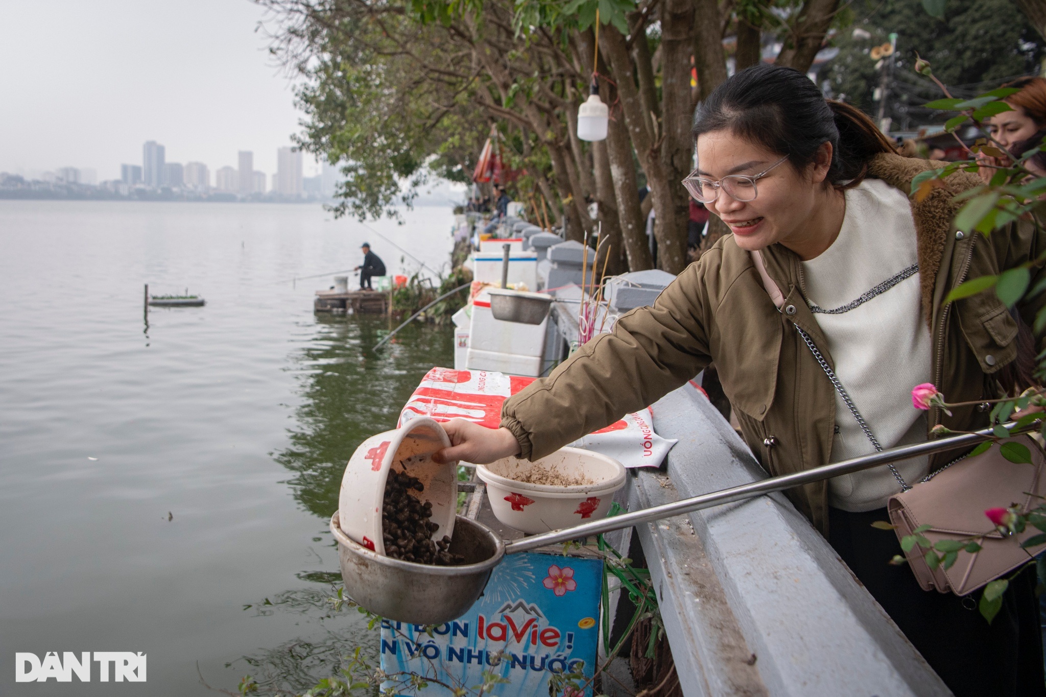
[[[624,315],[612,333],[588,342],[551,375],[505,401],[501,425],[516,436],[520,457],[538,460],[608,426],[711,362],[702,268],[690,264],[653,306]]]

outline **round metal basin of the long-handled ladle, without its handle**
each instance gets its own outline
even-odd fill
[[[505,555],[500,537],[460,515],[450,551],[463,555],[468,563],[458,566],[416,564],[371,552],[341,531],[337,512],[331,533],[338,540],[348,597],[374,614],[411,624],[439,625],[464,614]]]

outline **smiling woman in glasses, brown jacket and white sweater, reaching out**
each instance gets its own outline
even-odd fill
[[[451,421],[445,457],[541,458],[712,361],[746,442],[772,474],[872,451],[812,348],[884,448],[926,440],[936,423],[984,427],[987,414],[975,408],[954,416],[913,409],[911,389],[933,382],[951,402],[1014,389],[1019,319],[994,293],[951,306],[943,298],[967,278],[999,273],[1000,260],[1036,258],[1046,250],[1042,233],[1025,224],[990,239],[954,231],[961,203],[953,196],[977,176],[959,172],[909,201],[912,178],[933,165],[896,155],[868,117],[826,102],[794,70],[759,65],[734,75],[701,104],[693,133],[699,167],[683,184],[733,234],[652,307],[623,316],[613,333],[507,400],[501,428]],[[1029,324],[1037,306],[1020,308]],[[925,593],[908,568],[889,565],[896,537],[871,528],[887,518],[902,479],[917,482],[948,458],[789,494],[955,694],[1046,694],[1033,574],[1010,583],[988,625],[969,599],[967,607]]]

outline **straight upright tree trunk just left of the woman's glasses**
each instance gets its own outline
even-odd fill
[[[689,195],[682,185],[693,168],[693,107],[690,99],[690,56],[693,50],[693,5],[691,0],[661,1],[662,142],[670,201],[668,211],[658,210],[659,265],[672,274],[686,268],[686,229],[689,222]],[[657,200],[655,199],[655,205]],[[670,224],[664,215],[672,216]]]

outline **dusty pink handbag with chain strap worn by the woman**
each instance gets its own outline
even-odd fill
[[[761,255],[758,252],[750,254],[755,270],[763,280],[763,286],[780,309],[784,303],[783,295],[767,274]],[[882,450],[864,417],[858,412],[846,389],[810,334],[798,325],[795,325],[795,328],[872,446],[876,450]],[[1021,533],[1004,535],[984,515],[987,509],[1009,508],[1015,505],[1019,507],[1019,512],[1026,513],[1044,501],[1042,473],[1046,455],[1042,447],[1029,436],[1009,438],[1001,442],[1007,441],[1026,445],[1031,452],[1031,463],[1010,462],[1002,457],[999,447],[993,446],[981,455],[972,458],[963,456],[953,460],[913,486],[904,481],[901,472],[892,464],[887,465],[901,487],[901,492],[890,496],[887,502],[890,522],[896,526],[899,539],[915,534],[914,531],[920,526],[931,526],[918,533],[931,543],[977,536],[976,541],[981,548],[973,553],[964,549],[957,550],[954,562],[948,568],[945,568],[945,564],[930,568],[925,548],[918,544],[912,547],[905,553],[905,557],[924,590],[936,588],[940,593],[965,596],[1008,574],[1046,549],[1046,544],[1028,549],[1021,547],[1021,542],[1039,534],[1037,528],[1029,526]]]

